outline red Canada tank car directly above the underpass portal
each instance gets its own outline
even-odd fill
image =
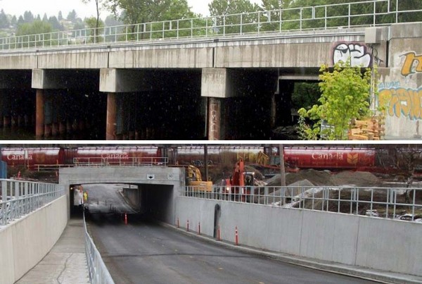
[[[160,147],[155,146],[109,146],[78,147],[69,149],[73,163],[164,163]]]

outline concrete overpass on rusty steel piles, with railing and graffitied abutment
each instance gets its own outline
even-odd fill
[[[372,11],[359,16],[362,3],[2,38],[0,126],[33,125],[38,138],[89,129],[79,138],[269,139],[294,123],[295,82],[350,56],[379,66],[386,136],[414,139],[422,23],[399,15],[421,11],[366,2]]]

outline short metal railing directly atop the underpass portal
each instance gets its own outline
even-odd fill
[[[76,167],[106,167],[106,166],[167,166],[167,157],[125,157],[125,158],[110,158],[110,157],[84,157],[73,158],[73,165]]]

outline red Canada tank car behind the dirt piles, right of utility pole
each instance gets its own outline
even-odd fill
[[[376,149],[364,147],[285,147],[283,153],[292,168],[357,169],[376,162]]]

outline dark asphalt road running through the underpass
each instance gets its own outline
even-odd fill
[[[89,231],[115,283],[373,283],[239,252],[137,215],[125,225],[107,209],[91,213]]]

